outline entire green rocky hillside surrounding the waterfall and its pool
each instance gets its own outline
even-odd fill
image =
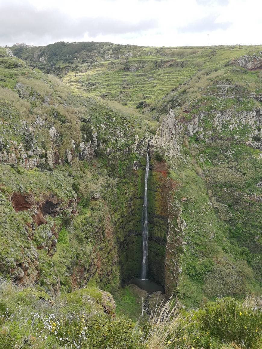
[[[104,342],[94,332],[79,348],[158,348],[127,320],[143,296],[145,317],[155,298],[173,297],[188,319],[159,348],[258,348],[262,46],[10,49],[0,47],[0,311],[12,311],[0,344],[63,348],[49,332],[48,344],[30,339],[45,325],[12,325],[16,307],[30,318],[41,303],[64,334],[71,315],[74,328],[82,316],[98,326]],[[140,277],[148,144],[148,277],[165,295],[127,285]],[[250,318],[225,317],[226,338],[212,323],[224,306]]]

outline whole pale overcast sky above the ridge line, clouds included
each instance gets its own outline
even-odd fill
[[[262,0],[0,0],[0,45],[262,44]]]

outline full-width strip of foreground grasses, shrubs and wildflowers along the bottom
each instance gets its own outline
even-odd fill
[[[90,292],[87,288],[86,297],[77,291],[52,298],[43,288],[17,288],[1,279],[0,348],[260,348],[258,297],[218,299],[195,311],[185,311],[170,298],[149,319],[143,310],[132,322],[103,313]]]

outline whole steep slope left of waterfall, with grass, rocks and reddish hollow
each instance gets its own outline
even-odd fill
[[[155,122],[2,55],[1,275],[52,294],[90,279],[116,292],[128,270],[139,274],[143,198],[133,163]]]

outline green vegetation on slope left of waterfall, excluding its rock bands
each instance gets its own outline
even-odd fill
[[[34,260],[34,248],[48,244],[48,248],[37,250],[39,265],[35,266],[38,268],[40,283],[47,290],[56,288],[58,279],[60,290],[67,292],[94,277],[103,288],[116,291],[119,287],[117,242],[116,237],[107,236],[109,228],[106,227],[104,218],[112,217],[110,224],[114,226],[117,219],[114,211],[126,210],[126,200],[132,200],[136,190],[133,187],[136,182],[132,179],[132,164],[138,156],[124,155],[123,149],[133,144],[135,134],[140,137],[146,132],[150,134],[150,128],[154,127],[155,122],[149,118],[145,121],[141,114],[123,106],[107,105],[66,87],[51,75],[45,75],[38,69],[33,70],[15,57],[0,58],[0,74],[3,76],[0,81],[0,119],[5,123],[3,140],[7,151],[9,141],[16,141],[17,144],[21,142],[26,146],[22,120],[35,128],[36,117],[40,116],[45,122],[54,125],[60,136],[57,143],[53,143],[48,128],[28,131],[31,139],[35,139],[34,147],[42,149],[44,144],[47,150],[57,149],[63,158],[64,147],[71,147],[72,139],[76,142],[76,149],[78,148],[81,127],[86,124],[80,118],[84,117],[89,120],[89,127],[97,129],[97,139],[103,142],[105,150],[109,147],[118,152],[105,156],[104,150],[100,150],[98,159],[88,163],[75,159],[72,167],[63,164],[54,171],[38,168],[27,171],[0,165],[0,214],[1,221],[5,221],[0,229],[1,273],[10,277],[9,268],[14,268],[27,258]],[[28,93],[24,98],[20,98],[14,89],[17,82],[26,86]],[[53,118],[53,110],[59,111],[63,122]],[[104,122],[109,126],[100,127]],[[115,136],[118,128],[122,132],[122,138]],[[28,146],[31,146],[30,142]],[[34,231],[26,225],[34,225],[34,211],[15,212],[10,203],[13,192],[31,194],[35,202],[41,201],[45,194],[52,193],[66,206],[66,202],[76,196],[73,187],[81,199],[78,217],[74,219],[70,211],[64,209],[57,217],[46,218],[46,224],[34,227]],[[93,200],[94,195],[98,195],[99,199]],[[66,221],[66,216],[70,216],[71,221]],[[9,218],[6,220],[6,217]],[[52,227],[55,227],[58,236],[53,250],[49,246],[51,240],[47,240],[47,233]],[[118,234],[122,239],[123,231],[118,231]],[[28,240],[30,235],[33,239]],[[107,253],[99,252],[96,246],[98,240],[99,247]]]

